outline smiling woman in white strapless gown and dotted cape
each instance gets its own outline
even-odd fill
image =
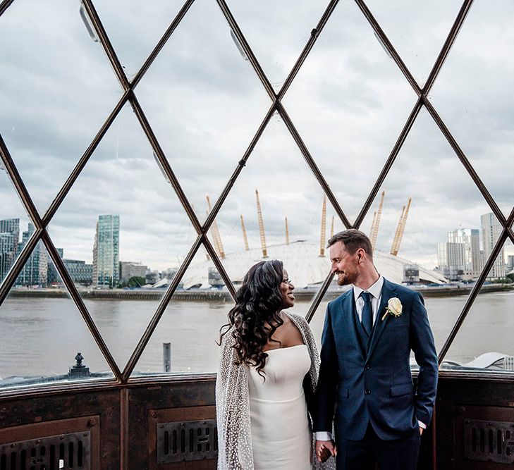
[[[293,290],[281,261],[261,261],[235,295],[216,378],[218,469],[313,467],[308,411],[319,359],[305,319],[283,311]]]

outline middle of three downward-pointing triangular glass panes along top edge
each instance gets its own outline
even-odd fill
[[[329,2],[228,0],[227,4],[278,92]]]

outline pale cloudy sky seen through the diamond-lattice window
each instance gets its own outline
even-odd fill
[[[228,1],[278,91],[328,1]],[[460,1],[369,0],[412,75],[432,68]],[[181,7],[179,1],[94,2],[130,79]],[[122,95],[102,50],[69,0],[16,0],[0,17],[0,133],[44,214]],[[504,214],[512,209],[514,4],[476,0],[430,94]],[[231,38],[214,0],[196,0],[135,89],[150,125],[201,220],[267,113],[271,100]],[[353,221],[416,94],[353,1],[341,0],[283,105]],[[226,252],[259,243],[255,189],[267,240],[319,242],[323,193],[279,116],[273,116],[217,218]],[[391,247],[401,208],[412,206],[400,255],[436,266],[448,230],[480,228],[490,212],[429,113],[422,111],[386,178],[378,248]],[[0,218],[28,221],[0,171]],[[374,202],[373,210],[378,206]],[[369,231],[372,211],[362,229]],[[99,214],[120,214],[123,261],[176,266],[195,232],[126,105],[49,224],[65,257],[92,261]],[[329,221],[333,209],[329,208]],[[329,223],[329,222],[328,222]],[[328,225],[328,224],[327,224]],[[336,221],[336,230],[341,229]],[[510,244],[507,252],[514,252]]]

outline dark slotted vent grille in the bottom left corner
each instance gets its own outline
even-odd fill
[[[91,470],[91,432],[0,445],[0,470]]]

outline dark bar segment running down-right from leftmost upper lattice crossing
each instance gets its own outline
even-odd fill
[[[185,212],[188,214],[188,217],[190,218],[190,221],[194,226],[195,230],[198,234],[202,233],[202,225],[200,224],[200,221],[198,221],[195,211],[194,209],[192,209],[192,206],[188,198],[185,196],[185,192],[180,186],[180,183],[178,183],[178,179],[176,178],[175,173],[173,173],[173,170],[171,169],[171,166],[169,165],[169,162],[166,159],[164,151],[161,148],[161,145],[159,144],[159,141],[157,140],[157,137],[155,136],[154,131],[152,130],[152,127],[150,126],[147,117],[145,116],[145,113],[139,104],[139,101],[137,101],[137,97],[135,96],[134,92],[131,92],[130,95],[131,96],[129,100],[133,106],[135,115],[137,116],[137,119],[139,120],[143,131],[147,135],[147,138],[150,142],[150,145],[152,146],[152,149],[154,149],[157,158],[161,162],[161,166],[164,169],[164,173],[166,173],[166,176],[170,180],[171,186],[173,187],[173,190],[175,190],[178,199],[180,200],[180,203],[182,204]]]

